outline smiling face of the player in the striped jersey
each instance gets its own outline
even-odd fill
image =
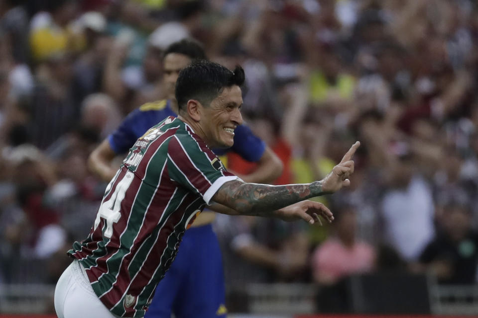
[[[200,106],[200,126],[209,147],[229,148],[234,144],[234,130],[242,124],[239,86],[224,87],[210,106]]]

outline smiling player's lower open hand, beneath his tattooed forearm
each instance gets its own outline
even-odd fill
[[[334,221],[334,215],[325,205],[310,200],[297,202],[276,211],[276,217],[284,221],[302,219],[310,224],[319,222],[322,225],[319,216],[322,216],[329,223]]]

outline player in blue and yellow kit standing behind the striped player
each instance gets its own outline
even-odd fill
[[[132,111],[90,155],[90,169],[104,180],[111,180],[117,171],[111,162],[117,155],[126,153],[150,127],[167,116],[176,116],[174,88],[179,71],[192,61],[205,58],[203,48],[195,41],[182,40],[170,45],[163,58],[168,99],[146,103]],[[217,155],[233,151],[243,159],[257,162],[253,173],[241,176],[245,182],[268,183],[282,172],[280,159],[245,125],[236,128],[232,148],[213,151]],[[211,225],[214,218],[214,212],[204,211],[186,231],[176,259],[156,288],[146,318],[170,318],[171,313],[176,318],[226,317],[221,251]]]

